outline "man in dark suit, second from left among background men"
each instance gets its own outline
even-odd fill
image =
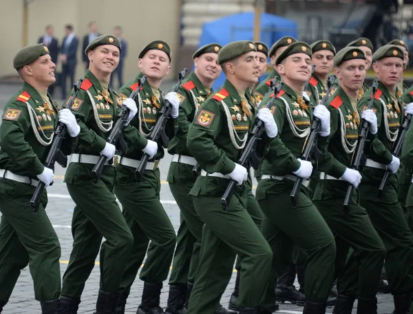
[[[79,45],[79,40],[73,32],[73,26],[67,24],[65,26],[65,38],[61,46],[62,60],[62,98],[65,99],[66,94],[66,77],[70,76],[71,86],[74,83],[74,72],[76,70],[76,51]]]

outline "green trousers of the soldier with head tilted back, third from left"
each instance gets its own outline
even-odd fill
[[[159,169],[146,170],[142,181],[136,182],[134,168],[119,167],[116,196],[123,205],[123,216],[134,235],[134,246],[120,284],[120,289],[129,294],[146,253],[147,259],[140,271],[140,279],[151,284],[167,279],[176,233],[160,203]]]

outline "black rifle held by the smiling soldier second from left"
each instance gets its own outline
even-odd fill
[[[134,99],[136,101],[136,98],[139,94],[140,87],[142,87],[143,83],[146,81],[146,76],[142,76],[138,82],[138,87],[136,90],[134,90],[129,98]],[[112,145],[115,145],[120,154],[125,154],[127,151],[127,145],[125,142],[125,138],[122,136],[122,132],[127,127],[127,116],[129,115],[129,109],[125,105],[122,105],[122,109],[120,109],[120,112],[118,113],[118,120],[116,120],[116,123],[114,127],[112,128],[112,131],[110,132],[109,136],[107,136],[106,141],[107,143],[110,143]],[[92,180],[94,184],[98,182],[100,176],[102,175],[103,167],[105,167],[107,157],[105,155],[100,155],[98,162],[94,166],[92,170]],[[112,165],[114,163],[114,158],[111,158],[109,160],[109,165]]]

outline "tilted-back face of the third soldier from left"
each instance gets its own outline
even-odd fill
[[[138,66],[143,74],[153,79],[163,79],[171,70],[168,55],[162,50],[148,50],[139,59]]]

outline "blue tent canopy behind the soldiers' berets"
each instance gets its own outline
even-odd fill
[[[254,12],[243,12],[217,19],[202,26],[200,47],[208,43],[226,45],[231,41],[253,40]],[[298,27],[295,21],[277,17],[277,15],[261,14],[261,41],[271,47],[275,41],[283,36],[298,38]],[[213,84],[217,90],[225,81],[224,74]]]

